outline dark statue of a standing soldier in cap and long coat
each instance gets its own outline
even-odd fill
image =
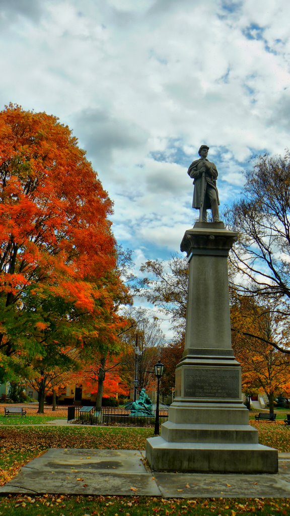
[[[213,221],[219,220],[219,198],[216,187],[216,179],[218,171],[214,163],[208,161],[207,145],[202,145],[199,148],[200,159],[196,159],[191,163],[187,173],[194,179],[194,199],[192,201],[192,208],[199,209],[199,221],[207,222],[207,209],[212,210]]]

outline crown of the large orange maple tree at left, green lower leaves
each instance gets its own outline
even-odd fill
[[[62,350],[123,325],[112,204],[68,126],[0,112],[0,381],[52,370]],[[69,364],[66,364],[69,367]]]

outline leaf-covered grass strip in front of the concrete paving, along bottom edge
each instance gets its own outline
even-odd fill
[[[15,495],[0,498],[0,514],[17,516],[244,516],[289,514],[289,499],[199,498],[145,496]]]

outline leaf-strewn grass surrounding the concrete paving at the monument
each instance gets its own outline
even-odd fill
[[[28,417],[28,416],[26,416]],[[37,416],[36,416],[37,417]],[[43,416],[42,416],[43,417]],[[51,415],[47,416],[51,417]],[[55,417],[54,417],[55,418]],[[7,418],[5,418],[7,419]],[[21,419],[21,418],[20,418]],[[11,418],[12,420],[12,418]],[[290,452],[290,428],[283,422],[251,421],[260,443]],[[48,448],[144,449],[152,428],[88,426],[0,427],[0,483],[13,478],[20,467]],[[135,496],[9,495],[0,497],[0,516],[169,516],[176,514],[237,516],[239,514],[290,514],[290,499],[199,498],[163,499]]]

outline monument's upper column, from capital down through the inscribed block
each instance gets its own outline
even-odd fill
[[[231,342],[228,255],[236,233],[196,222],[181,250],[189,260],[185,350],[176,367],[175,401],[238,402],[241,370]],[[191,366],[195,366],[192,369]]]

